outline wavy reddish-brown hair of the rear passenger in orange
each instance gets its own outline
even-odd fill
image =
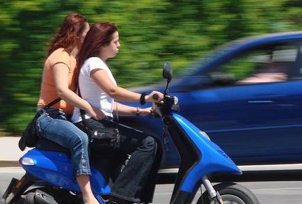
[[[71,13],[70,15],[67,15],[63,24],[58,29],[56,36],[54,36],[49,43],[47,56],[60,47],[63,47],[67,52],[70,52],[77,36],[79,36],[86,28],[85,26],[87,22],[88,20],[86,17],[79,13]]]

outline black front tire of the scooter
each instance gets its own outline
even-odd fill
[[[221,183],[214,186],[223,199],[223,204],[260,204],[258,198],[248,188],[236,183]],[[202,203],[203,201],[203,203]],[[205,191],[197,204],[215,204]]]

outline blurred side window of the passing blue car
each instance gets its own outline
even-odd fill
[[[241,86],[302,79],[302,41],[256,47],[230,58],[206,77],[211,86]]]

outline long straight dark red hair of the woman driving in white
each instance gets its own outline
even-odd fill
[[[93,24],[84,39],[81,50],[77,56],[77,70],[80,70],[87,58],[98,56],[103,46],[110,44],[113,33],[118,31],[116,24],[109,22],[96,22]]]

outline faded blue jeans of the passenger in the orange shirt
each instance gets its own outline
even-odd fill
[[[71,150],[72,173],[91,175],[88,157],[88,136],[73,123],[71,116],[58,109],[43,110],[36,122],[41,137],[54,141]]]

